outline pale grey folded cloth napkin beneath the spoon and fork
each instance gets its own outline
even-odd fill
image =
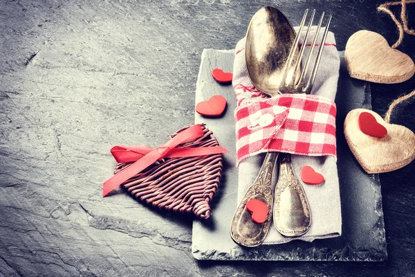
[[[315,30],[316,27],[313,26],[308,37],[309,41],[306,42],[306,46],[308,47],[311,46]],[[306,30],[303,30],[303,37],[305,32]],[[317,38],[317,42],[321,41],[322,33],[323,32],[320,31],[320,38]],[[302,38],[300,38],[299,41],[302,42]],[[243,105],[246,105],[247,102],[252,100],[264,102],[267,99],[261,91],[258,91],[253,86],[248,77],[245,60],[245,42],[246,38],[243,38],[237,44],[233,68],[232,84],[234,86],[238,107],[242,107]],[[318,48],[314,49],[314,57],[311,59],[311,64],[313,64],[313,61],[317,56],[317,49]],[[303,57],[303,64],[305,59],[306,57]],[[310,66],[307,75],[311,72],[311,68],[312,66]],[[321,96],[328,102],[334,101],[337,90],[339,68],[340,58],[335,47],[335,38],[333,33],[329,32],[311,94]],[[277,107],[276,109],[279,108],[280,107]],[[263,151],[259,154],[253,154],[249,157],[245,157],[240,161],[238,166],[238,203],[241,203],[246,191],[255,181],[262,162],[264,161],[265,155],[266,153]],[[306,234],[299,238],[295,238],[298,240],[312,242],[315,239],[338,237],[342,233],[342,216],[340,210],[340,193],[336,157],[335,154],[323,155],[324,156],[321,157],[305,156],[304,154],[292,155],[294,174],[301,183],[302,179],[300,172],[303,166],[311,166],[316,172],[319,172],[324,176],[324,182],[317,186],[310,186],[302,183],[308,199],[308,204],[310,205],[311,228]],[[274,188],[275,184],[277,184],[278,171],[279,168],[276,166],[274,170],[275,174],[273,176]],[[291,240],[293,240],[293,238],[286,238],[282,236],[275,229],[275,226],[272,225],[264,244],[280,244]]]

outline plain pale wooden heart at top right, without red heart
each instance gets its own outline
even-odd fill
[[[404,82],[415,73],[412,59],[391,47],[378,33],[360,30],[346,44],[344,60],[351,77],[394,84]]]

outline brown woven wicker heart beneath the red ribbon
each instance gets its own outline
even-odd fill
[[[201,125],[203,136],[178,145],[181,148],[219,146],[212,132]],[[182,132],[180,129],[176,132]],[[176,136],[173,134],[172,137]],[[115,173],[131,163],[118,163]],[[138,173],[122,186],[140,202],[201,219],[210,217],[209,202],[216,193],[222,174],[222,155],[163,159]]]

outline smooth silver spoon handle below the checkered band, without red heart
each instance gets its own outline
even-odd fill
[[[282,235],[297,237],[310,228],[310,207],[304,188],[294,175],[291,154],[279,155],[279,179],[274,197],[274,225]]]

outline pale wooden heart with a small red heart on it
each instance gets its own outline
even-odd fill
[[[359,127],[362,112],[372,114],[387,129],[387,135],[376,138],[363,133]],[[368,173],[382,173],[403,168],[415,159],[415,134],[407,127],[385,123],[376,112],[353,109],[344,120],[344,136],[351,152]]]

